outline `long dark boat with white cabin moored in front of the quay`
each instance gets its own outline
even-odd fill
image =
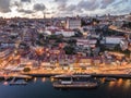
[[[59,77],[59,76],[56,76]],[[60,76],[61,77],[61,76]],[[82,77],[86,77],[88,78],[88,76],[80,76],[80,75],[71,75],[71,76],[64,76],[66,77],[70,77],[69,81],[64,81],[64,79],[58,79],[57,82],[52,83],[52,86],[55,88],[96,88],[98,86],[98,83],[96,81],[81,81],[80,78]],[[79,77],[79,78],[78,78]],[[90,76],[91,77],[91,76]],[[76,79],[74,79],[76,78]]]

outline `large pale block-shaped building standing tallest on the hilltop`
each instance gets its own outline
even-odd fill
[[[75,29],[81,27],[81,20],[80,19],[68,19],[66,28],[68,29]]]

